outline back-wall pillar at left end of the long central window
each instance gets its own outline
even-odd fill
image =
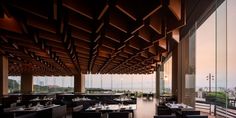
[[[74,92],[84,93],[85,92],[85,75],[78,74],[74,76]]]

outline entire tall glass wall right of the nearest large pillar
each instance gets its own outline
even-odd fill
[[[235,5],[224,1],[197,30],[196,107],[217,117],[236,117]]]

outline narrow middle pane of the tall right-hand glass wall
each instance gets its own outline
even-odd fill
[[[227,108],[227,34],[226,34],[226,1],[216,10],[216,114]],[[220,109],[218,109],[220,108]]]

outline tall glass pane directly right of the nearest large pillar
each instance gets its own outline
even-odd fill
[[[215,92],[215,68],[216,68],[216,24],[215,13],[196,31],[196,109],[208,112],[209,109],[202,109],[201,105],[209,105],[212,100],[211,92]],[[211,109],[214,112],[214,109]]]

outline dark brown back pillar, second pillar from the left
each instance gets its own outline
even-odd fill
[[[21,93],[32,93],[33,92],[33,75],[32,73],[21,74]]]

